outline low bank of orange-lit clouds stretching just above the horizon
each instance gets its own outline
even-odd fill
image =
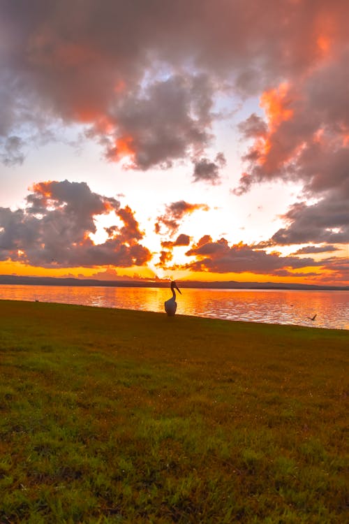
[[[177,233],[188,214],[207,210],[205,204],[177,201],[165,206],[165,214],[156,223],[165,232],[161,238],[158,258],[144,246],[144,233],[133,210],[121,208],[115,198],[96,194],[84,182],[38,182],[33,185],[23,208],[0,208],[0,261],[14,261],[41,268],[103,268],[96,275],[102,279],[120,279],[110,268],[147,267],[152,262],[162,270],[190,272],[254,273],[275,277],[318,277],[323,272],[348,279],[348,259],[328,257],[317,261],[308,254],[331,253],[336,247],[304,247],[290,256],[267,252],[272,241],[259,245],[243,242],[229,245],[224,238],[212,240],[204,235],[198,242],[191,236]],[[94,243],[96,219],[108,215],[112,226],[105,227],[107,238]],[[177,233],[177,236],[174,235]],[[299,239],[297,239],[299,240]],[[173,263],[174,249],[188,247],[186,263]]]

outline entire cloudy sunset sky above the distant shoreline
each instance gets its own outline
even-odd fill
[[[349,285],[347,0],[0,0],[0,275]]]

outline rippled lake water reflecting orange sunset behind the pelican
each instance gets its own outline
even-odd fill
[[[183,289],[177,314],[349,329],[349,291]],[[0,299],[163,312],[170,289],[0,285]],[[315,321],[307,316],[317,314]]]

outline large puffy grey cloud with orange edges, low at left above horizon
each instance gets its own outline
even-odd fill
[[[0,256],[50,268],[144,265],[149,249],[131,208],[114,198],[93,193],[84,182],[39,182],[31,188],[27,206],[0,208]],[[109,228],[103,244],[94,245],[95,217],[114,214],[122,226]]]

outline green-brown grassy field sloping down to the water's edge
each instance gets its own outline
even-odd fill
[[[344,523],[348,348],[0,301],[0,523]]]

